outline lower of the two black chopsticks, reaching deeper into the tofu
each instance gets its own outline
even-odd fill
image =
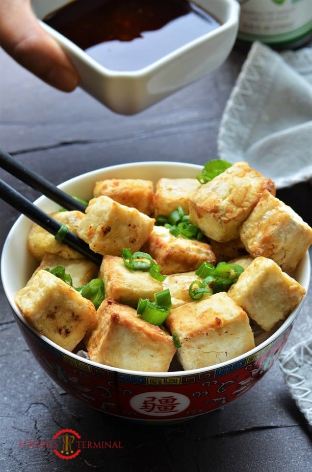
[[[56,235],[61,229],[62,225],[58,221],[44,213],[43,210],[34,205],[2,179],[0,179],[0,197],[49,233]],[[67,231],[62,242],[75,249],[93,263],[97,265],[101,264],[102,256],[91,251],[88,244],[72,232]]]

